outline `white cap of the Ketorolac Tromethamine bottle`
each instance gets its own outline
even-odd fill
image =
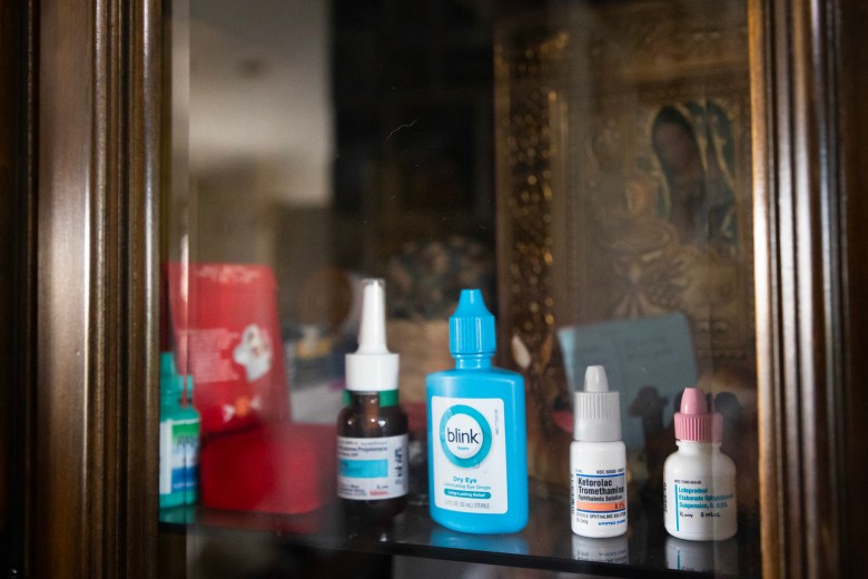
[[[621,440],[621,399],[609,391],[603,366],[588,366],[584,390],[574,394],[573,438],[582,442]]]

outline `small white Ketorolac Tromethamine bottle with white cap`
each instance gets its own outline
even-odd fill
[[[582,537],[618,537],[627,532],[627,449],[621,441],[620,398],[609,391],[603,366],[588,366],[584,390],[574,401],[572,529]]]

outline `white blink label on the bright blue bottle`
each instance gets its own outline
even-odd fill
[[[503,400],[432,396],[431,419],[434,504],[458,512],[505,513]]]

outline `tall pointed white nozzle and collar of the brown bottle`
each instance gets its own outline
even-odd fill
[[[386,347],[386,292],[383,279],[362,282],[358,350],[346,355],[346,387],[363,392],[397,389],[398,355]]]

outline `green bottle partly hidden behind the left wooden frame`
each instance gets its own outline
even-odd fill
[[[160,509],[198,499],[199,413],[193,408],[193,376],[175,370],[171,352],[160,354]]]

